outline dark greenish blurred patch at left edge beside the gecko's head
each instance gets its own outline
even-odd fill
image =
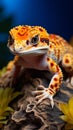
[[[7,48],[8,31],[12,25],[13,16],[5,18],[3,16],[4,8],[0,7],[0,69],[11,59],[11,53]]]

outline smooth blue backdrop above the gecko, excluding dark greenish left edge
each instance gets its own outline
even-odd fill
[[[0,0],[0,5],[4,17],[13,16],[12,26],[41,25],[67,40],[73,35],[73,0]]]

